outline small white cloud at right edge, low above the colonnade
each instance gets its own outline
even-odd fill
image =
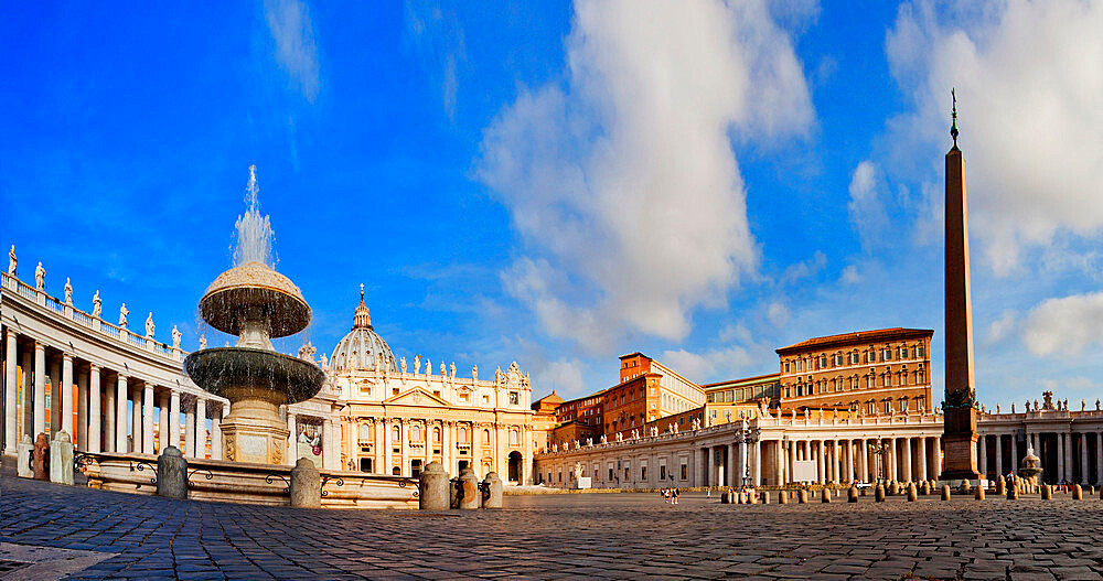
[[[1027,316],[1022,341],[1035,355],[1078,355],[1103,344],[1103,292],[1042,302]]]

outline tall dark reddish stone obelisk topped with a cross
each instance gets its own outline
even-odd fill
[[[968,289],[968,209],[965,159],[957,149],[957,96],[946,153],[946,395],[942,481],[979,480],[976,470],[976,386],[973,381],[973,314]]]

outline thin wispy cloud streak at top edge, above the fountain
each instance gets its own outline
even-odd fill
[[[318,46],[310,10],[298,0],[265,0],[265,20],[276,41],[276,57],[291,83],[313,103],[318,96]]]

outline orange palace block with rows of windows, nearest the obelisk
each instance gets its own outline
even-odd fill
[[[933,335],[929,329],[880,329],[782,347],[781,409],[929,410]]]

